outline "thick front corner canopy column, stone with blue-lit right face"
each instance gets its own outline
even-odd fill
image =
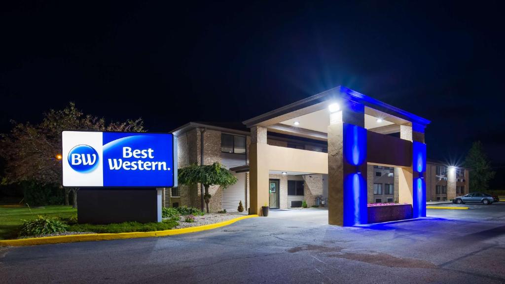
[[[345,101],[328,126],[328,222],[368,223],[367,130],[363,105]]]

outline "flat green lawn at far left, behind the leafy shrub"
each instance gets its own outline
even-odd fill
[[[0,206],[0,240],[16,239],[22,220],[35,219],[37,215],[68,218],[77,214],[72,206],[44,206],[44,208]]]

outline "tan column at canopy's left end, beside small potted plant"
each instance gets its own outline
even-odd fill
[[[261,145],[267,144],[267,128],[251,127],[251,144],[249,149],[249,214],[262,214],[261,207],[268,205],[268,165],[261,156]],[[260,146],[260,147],[259,147]]]

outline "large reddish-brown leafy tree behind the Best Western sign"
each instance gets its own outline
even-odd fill
[[[41,123],[16,123],[9,134],[2,134],[0,155],[6,160],[5,174],[9,183],[37,181],[43,184],[62,184],[62,131],[94,130],[144,132],[142,119],[111,122],[104,118],[84,115],[70,103],[63,110],[49,110]],[[65,204],[73,193],[73,207],[77,208],[79,188],[65,188]]]

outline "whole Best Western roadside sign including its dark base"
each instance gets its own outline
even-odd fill
[[[161,187],[177,186],[168,133],[63,131],[63,186],[80,187],[78,220],[161,222]]]

